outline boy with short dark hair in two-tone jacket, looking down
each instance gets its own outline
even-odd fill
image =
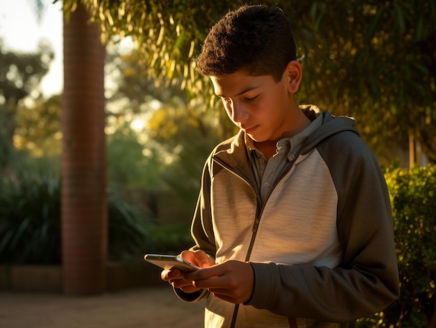
[[[399,293],[387,187],[350,118],[298,106],[302,79],[279,8],[242,6],[196,58],[240,132],[205,163],[192,235],[163,271],[205,327],[352,327]]]

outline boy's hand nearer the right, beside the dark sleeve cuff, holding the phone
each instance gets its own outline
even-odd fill
[[[195,272],[185,273],[197,288],[206,288],[216,297],[234,304],[247,302],[253,292],[254,272],[248,262],[228,260]]]

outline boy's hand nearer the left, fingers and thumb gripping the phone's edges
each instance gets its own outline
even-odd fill
[[[182,251],[179,255],[184,260],[196,265],[197,267],[210,267],[215,265],[215,260],[210,258],[205,251]],[[173,288],[179,288],[184,292],[196,292],[201,290],[201,288],[195,287],[192,281],[185,280],[184,272],[180,270],[164,270],[160,274],[162,280],[169,281]]]

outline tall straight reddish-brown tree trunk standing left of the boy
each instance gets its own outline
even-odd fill
[[[106,290],[104,47],[83,5],[64,18],[62,104],[63,291]]]

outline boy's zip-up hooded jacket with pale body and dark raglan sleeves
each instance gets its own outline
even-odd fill
[[[216,263],[249,261],[246,304],[208,295],[205,327],[354,327],[399,295],[384,175],[351,118],[322,125],[288,155],[290,169],[262,202],[244,132],[208,157],[192,222],[196,249]],[[177,294],[185,300],[198,295]]]

